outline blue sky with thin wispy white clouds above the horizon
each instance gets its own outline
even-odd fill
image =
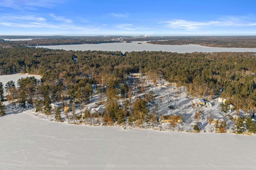
[[[0,35],[256,35],[256,0],[0,0]]]

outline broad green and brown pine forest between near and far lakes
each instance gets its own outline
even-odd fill
[[[146,100],[137,100],[133,109],[126,111],[116,102],[119,90],[122,98],[130,96],[126,85],[130,73],[142,73],[152,80],[161,77],[176,82],[178,87],[186,86],[190,96],[228,98],[228,104],[248,113],[254,113],[256,106],[255,53],[122,53],[1,48],[0,74],[14,73],[38,74],[42,78],[40,81],[33,77],[20,79],[17,85],[14,82],[1,84],[0,91],[6,89],[10,104],[16,105],[14,101],[18,99],[20,106],[34,105],[37,111],[45,114],[51,114],[52,102],[90,102],[92,84],[100,84],[98,92],[108,98],[106,114],[102,115],[107,123],[122,123],[124,117],[129,116],[138,121],[146,120]],[[3,99],[3,92],[0,95]],[[37,100],[33,100],[34,96],[38,97]]]

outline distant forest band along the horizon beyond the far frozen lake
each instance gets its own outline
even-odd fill
[[[31,38],[28,41],[4,41],[0,38],[0,47],[98,44],[131,41],[148,41],[160,45],[198,44],[208,47],[256,48],[256,36],[164,36],[164,37],[130,37],[130,36],[1,36],[5,39]]]

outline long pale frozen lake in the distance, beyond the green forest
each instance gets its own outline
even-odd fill
[[[138,44],[141,43],[141,44]],[[192,52],[255,52],[256,48],[221,48],[221,47],[204,47],[201,45],[154,45],[148,44],[146,41],[134,41],[132,43],[102,43],[102,44],[78,44],[78,45],[48,45],[38,46],[49,49],[64,49],[74,51],[168,51],[177,53],[192,53]]]

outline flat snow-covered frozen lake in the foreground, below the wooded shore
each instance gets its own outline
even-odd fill
[[[56,123],[29,112],[0,117],[1,170],[256,169],[256,136],[124,131]]]

